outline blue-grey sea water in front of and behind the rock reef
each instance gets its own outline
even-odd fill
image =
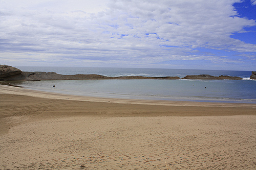
[[[211,76],[238,76],[243,78],[243,80],[49,80],[22,82],[19,85],[34,90],[102,98],[256,103],[256,81],[249,79],[251,71],[159,68],[15,67],[22,71],[57,72],[62,75],[97,74],[110,77],[178,76],[183,78],[187,75],[201,74]]]

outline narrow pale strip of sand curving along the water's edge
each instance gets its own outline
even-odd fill
[[[119,104],[141,104],[141,105],[163,105],[163,106],[212,106],[212,107],[255,107],[251,103],[229,103],[229,102],[189,102],[189,101],[167,101],[167,100],[140,100],[140,99],[118,99],[118,98],[99,98],[93,96],[82,96],[73,94],[54,93],[26,89],[20,86],[9,86],[0,84],[0,94],[17,94],[37,98],[88,101],[88,102],[105,102]]]

